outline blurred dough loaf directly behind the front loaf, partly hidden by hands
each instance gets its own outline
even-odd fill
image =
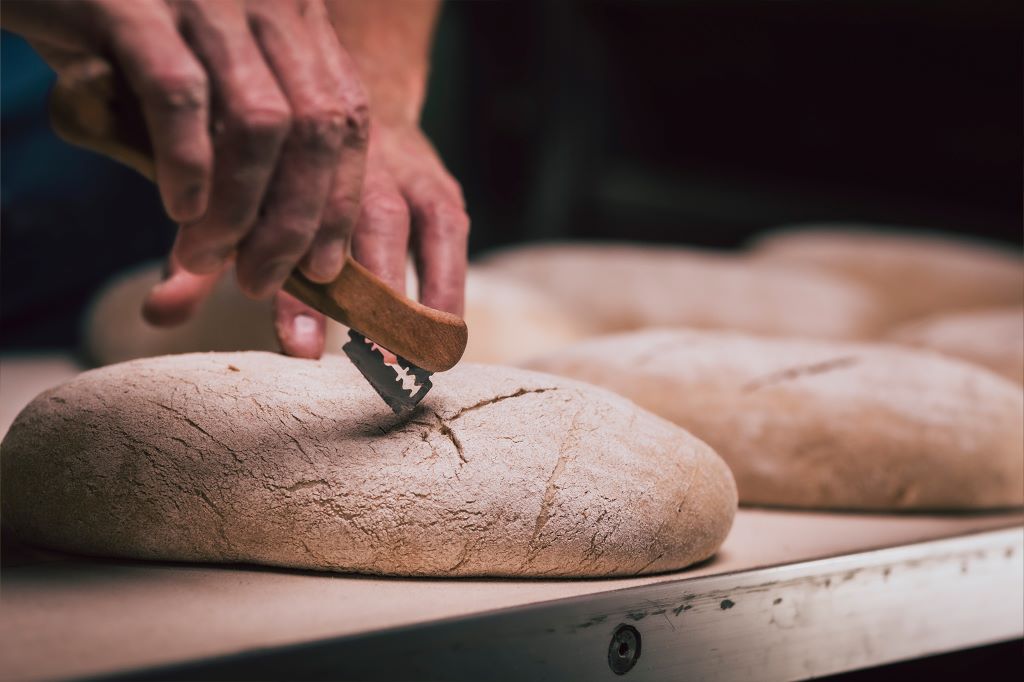
[[[279,350],[270,301],[253,301],[228,272],[188,322],[171,328],[142,319],[142,301],[161,278],[150,263],[114,279],[86,317],[86,353],[96,365],[208,350]],[[416,296],[411,271],[410,296]],[[560,348],[585,336],[571,313],[528,286],[470,270],[466,280],[469,343],[463,360],[515,363]],[[340,353],[348,330],[328,321],[325,352]]]

